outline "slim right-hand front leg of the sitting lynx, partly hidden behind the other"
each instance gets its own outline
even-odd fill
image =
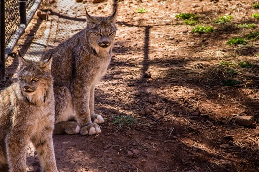
[[[102,124],[104,123],[104,118],[99,114],[95,114],[94,112],[94,90],[95,90],[95,86],[92,86],[90,90],[90,101],[89,101],[91,120],[93,123]]]

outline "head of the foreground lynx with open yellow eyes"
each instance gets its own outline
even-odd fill
[[[19,53],[20,54],[20,53]],[[23,95],[29,102],[45,102],[48,90],[52,87],[52,57],[44,61],[25,60],[19,57],[19,85]]]

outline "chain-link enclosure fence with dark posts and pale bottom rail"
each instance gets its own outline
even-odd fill
[[[42,0],[0,0],[0,80],[6,80],[5,61],[31,21]]]

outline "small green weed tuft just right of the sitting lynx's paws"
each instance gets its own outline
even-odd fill
[[[135,117],[132,117],[132,116],[121,116],[121,115],[117,115],[117,116],[114,116],[114,121],[113,121],[113,124],[118,124],[118,129],[119,130],[120,128],[122,127],[132,127],[134,124],[137,123],[137,120]]]

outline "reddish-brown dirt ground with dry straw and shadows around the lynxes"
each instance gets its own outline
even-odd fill
[[[74,3],[66,12],[57,4]],[[105,123],[96,136],[53,136],[60,172],[258,172],[259,171],[259,42],[227,45],[230,38],[259,31],[256,0],[119,0],[117,36],[107,74],[96,88],[96,113]],[[60,19],[85,25],[89,14],[110,15],[114,1],[43,2]],[[138,8],[145,8],[139,13]],[[74,14],[74,18],[69,16]],[[193,13],[190,26],[178,13]],[[80,15],[78,15],[80,14]],[[213,23],[232,15],[228,24]],[[238,24],[254,23],[255,28]],[[35,16],[18,47],[26,53],[43,21]],[[211,33],[193,33],[196,25]],[[73,25],[73,35],[82,28]],[[78,28],[79,27],[79,28]],[[58,27],[57,33],[62,32]],[[58,35],[58,34],[57,34]],[[56,37],[58,44],[70,35]],[[220,65],[249,62],[250,68]],[[9,59],[9,80],[15,81],[17,59]],[[231,73],[230,71],[236,71]],[[12,78],[12,79],[11,79]],[[226,81],[239,83],[224,86]],[[235,123],[253,116],[254,124]],[[116,124],[116,118],[132,125]],[[122,121],[120,121],[122,122]],[[36,156],[28,156],[28,171],[38,172]]]

